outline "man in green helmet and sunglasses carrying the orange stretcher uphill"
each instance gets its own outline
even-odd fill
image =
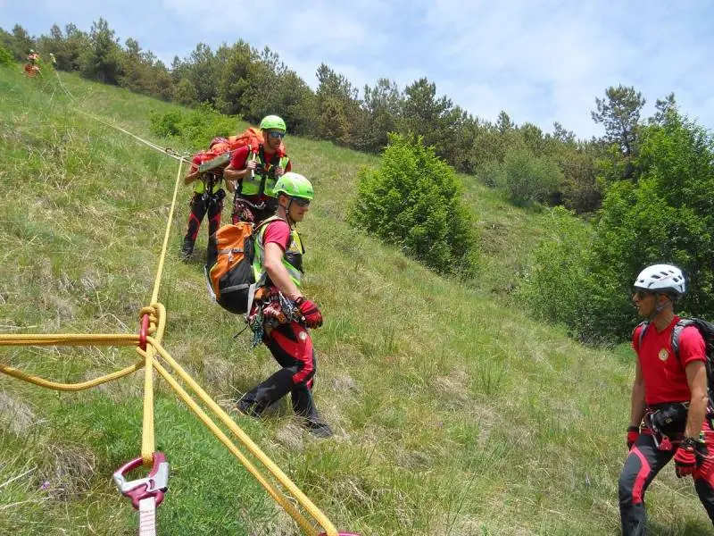
[[[263,142],[258,147],[240,147],[223,172],[228,191],[234,192],[233,223],[262,222],[274,214],[278,200],[273,188],[285,172],[291,170],[283,138],[285,121],[267,115],[261,121]]]

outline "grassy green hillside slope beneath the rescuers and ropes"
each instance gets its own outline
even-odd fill
[[[176,106],[62,80],[87,112],[173,143],[151,136],[148,115]],[[0,70],[0,127],[0,331],[137,331],[177,163],[77,113],[52,79],[8,69]],[[632,356],[625,347],[583,348],[512,297],[544,216],[463,177],[483,251],[477,281],[463,285],[345,223],[356,174],[377,157],[286,143],[317,192],[302,225],[305,289],[326,317],[313,332],[314,392],[337,433],[312,440],[287,403],[270,418],[237,423],[344,530],[619,533]],[[188,197],[184,187],[160,292],[164,346],[228,407],[277,365],[265,348],[251,351],[247,334],[233,339],[243,324],[208,302],[201,261],[179,262]],[[196,251],[204,245],[202,229]],[[135,358],[127,348],[0,352],[4,363],[58,381]],[[136,533],[111,474],[139,454],[141,398],[140,374],[76,394],[0,377],[0,533]],[[172,470],[161,533],[296,532],[161,380],[156,440]],[[673,473],[649,493],[652,534],[707,533],[691,482]]]

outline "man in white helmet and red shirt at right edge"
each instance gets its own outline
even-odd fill
[[[694,487],[714,523],[714,431],[707,392],[705,344],[695,326],[677,326],[674,304],[685,293],[684,274],[669,264],[645,268],[635,281],[633,303],[646,321],[635,328],[629,454],[619,476],[623,536],[644,536],[644,493],[673,457],[678,477]],[[677,351],[672,348],[676,331]]]

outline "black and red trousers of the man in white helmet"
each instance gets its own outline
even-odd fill
[[[694,489],[714,523],[714,437],[709,422],[704,423],[703,430],[710,454],[693,473]],[[641,433],[635,441],[619,475],[619,513],[623,536],[646,536],[649,533],[644,493],[675,452],[676,446],[671,450],[658,449],[650,433]]]

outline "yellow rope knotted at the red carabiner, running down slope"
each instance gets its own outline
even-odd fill
[[[104,122],[104,121],[101,121]],[[115,127],[109,123],[109,126]],[[117,127],[115,127],[117,128]],[[123,129],[119,129],[124,131]],[[129,133],[129,132],[128,132]],[[129,133],[130,134],[130,133]],[[134,136],[134,135],[132,135]],[[137,138],[135,136],[135,138]],[[161,150],[161,149],[159,149]],[[162,279],[163,265],[166,258],[166,253],[168,249],[169,237],[170,237],[170,227],[173,220],[174,208],[176,205],[176,199],[179,191],[179,180],[181,178],[181,164],[179,161],[179,170],[176,176],[176,183],[174,186],[173,199],[171,201],[169,221],[167,222],[166,232],[164,234],[162,254],[160,255],[159,265],[157,268],[156,279],[154,281],[154,291],[152,294],[151,303],[152,306],[147,306],[141,309],[139,317],[142,322],[142,331],[137,334],[27,334],[27,335],[0,335],[0,347],[4,346],[134,346],[142,359],[137,361],[137,363],[125,367],[114,373],[105,374],[99,378],[95,378],[90,381],[83,381],[79,383],[61,383],[56,381],[49,381],[38,376],[23,373],[20,370],[8,366],[6,364],[0,364],[0,372],[8,374],[18,380],[28,381],[37,385],[38,387],[44,387],[47,389],[64,390],[64,391],[77,391],[81,389],[89,389],[102,383],[108,381],[118,380],[130,373],[134,373],[142,367],[145,368],[145,381],[144,381],[144,422],[142,426],[142,458],[145,465],[151,465],[153,463],[154,454],[154,381],[153,381],[153,371],[154,369],[162,375],[162,377],[169,383],[170,387],[174,389],[179,398],[182,398],[186,402],[187,406],[195,413],[196,416],[203,422],[203,424],[212,431],[213,435],[220,440],[223,445],[228,448],[228,450],[237,457],[238,461],[245,466],[249,473],[268,491],[270,497],[274,498],[278,504],[286,510],[286,513],[290,515],[296,523],[303,529],[303,532],[309,536],[319,536],[318,530],[315,528],[314,524],[306,519],[293,505],[290,498],[285,492],[278,490],[273,484],[271,484],[267,478],[258,470],[258,468],[253,465],[253,463],[248,460],[245,455],[237,448],[236,444],[231,441],[228,436],[220,430],[220,427],[207,415],[203,409],[198,406],[193,398],[183,389],[179,382],[176,381],[171,374],[160,364],[156,358],[156,353],[166,361],[174,373],[177,373],[179,377],[187,383],[187,385],[193,389],[198,398],[200,398],[203,403],[208,406],[214,415],[218,416],[221,423],[228,427],[228,430],[233,432],[238,440],[244,445],[244,447],[252,454],[269,472],[272,476],[278,480],[280,485],[287,490],[290,495],[295,498],[295,500],[304,508],[304,510],[311,515],[311,518],[324,530],[327,536],[338,536],[338,532],[335,526],[328,520],[327,516],[324,515],[320,508],[316,507],[310,500],[303,494],[303,492],[292,482],[285,473],[283,473],[278,465],[270,460],[270,457],[265,455],[262,450],[253,442],[253,440],[248,437],[245,431],[230,418],[225,411],[223,411],[218,404],[195,382],[195,380],[170,356],[164,348],[162,348],[162,338],[166,327],[166,311],[162,304],[158,303],[159,288]],[[146,329],[144,329],[146,328]],[[145,346],[145,349],[141,347]]]

